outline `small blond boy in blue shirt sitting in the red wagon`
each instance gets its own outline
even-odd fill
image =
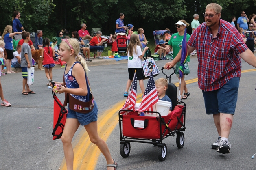
[[[159,100],[168,101],[168,102],[171,102],[171,104],[172,104],[171,99],[165,94],[166,90],[168,88],[167,80],[164,78],[160,78],[160,79],[156,80],[155,87],[156,87],[156,91],[158,92]],[[171,110],[172,110],[172,107],[170,107],[169,113],[171,112]]]

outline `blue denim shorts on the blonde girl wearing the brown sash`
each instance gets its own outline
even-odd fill
[[[82,125],[82,126],[88,125],[91,122],[97,121],[97,118],[98,118],[98,106],[96,104],[96,101],[94,100],[94,107],[93,107],[92,111],[89,112],[89,113],[75,112],[74,110],[71,110],[69,108],[69,104],[68,104],[67,118],[76,118],[79,121],[80,125]]]

